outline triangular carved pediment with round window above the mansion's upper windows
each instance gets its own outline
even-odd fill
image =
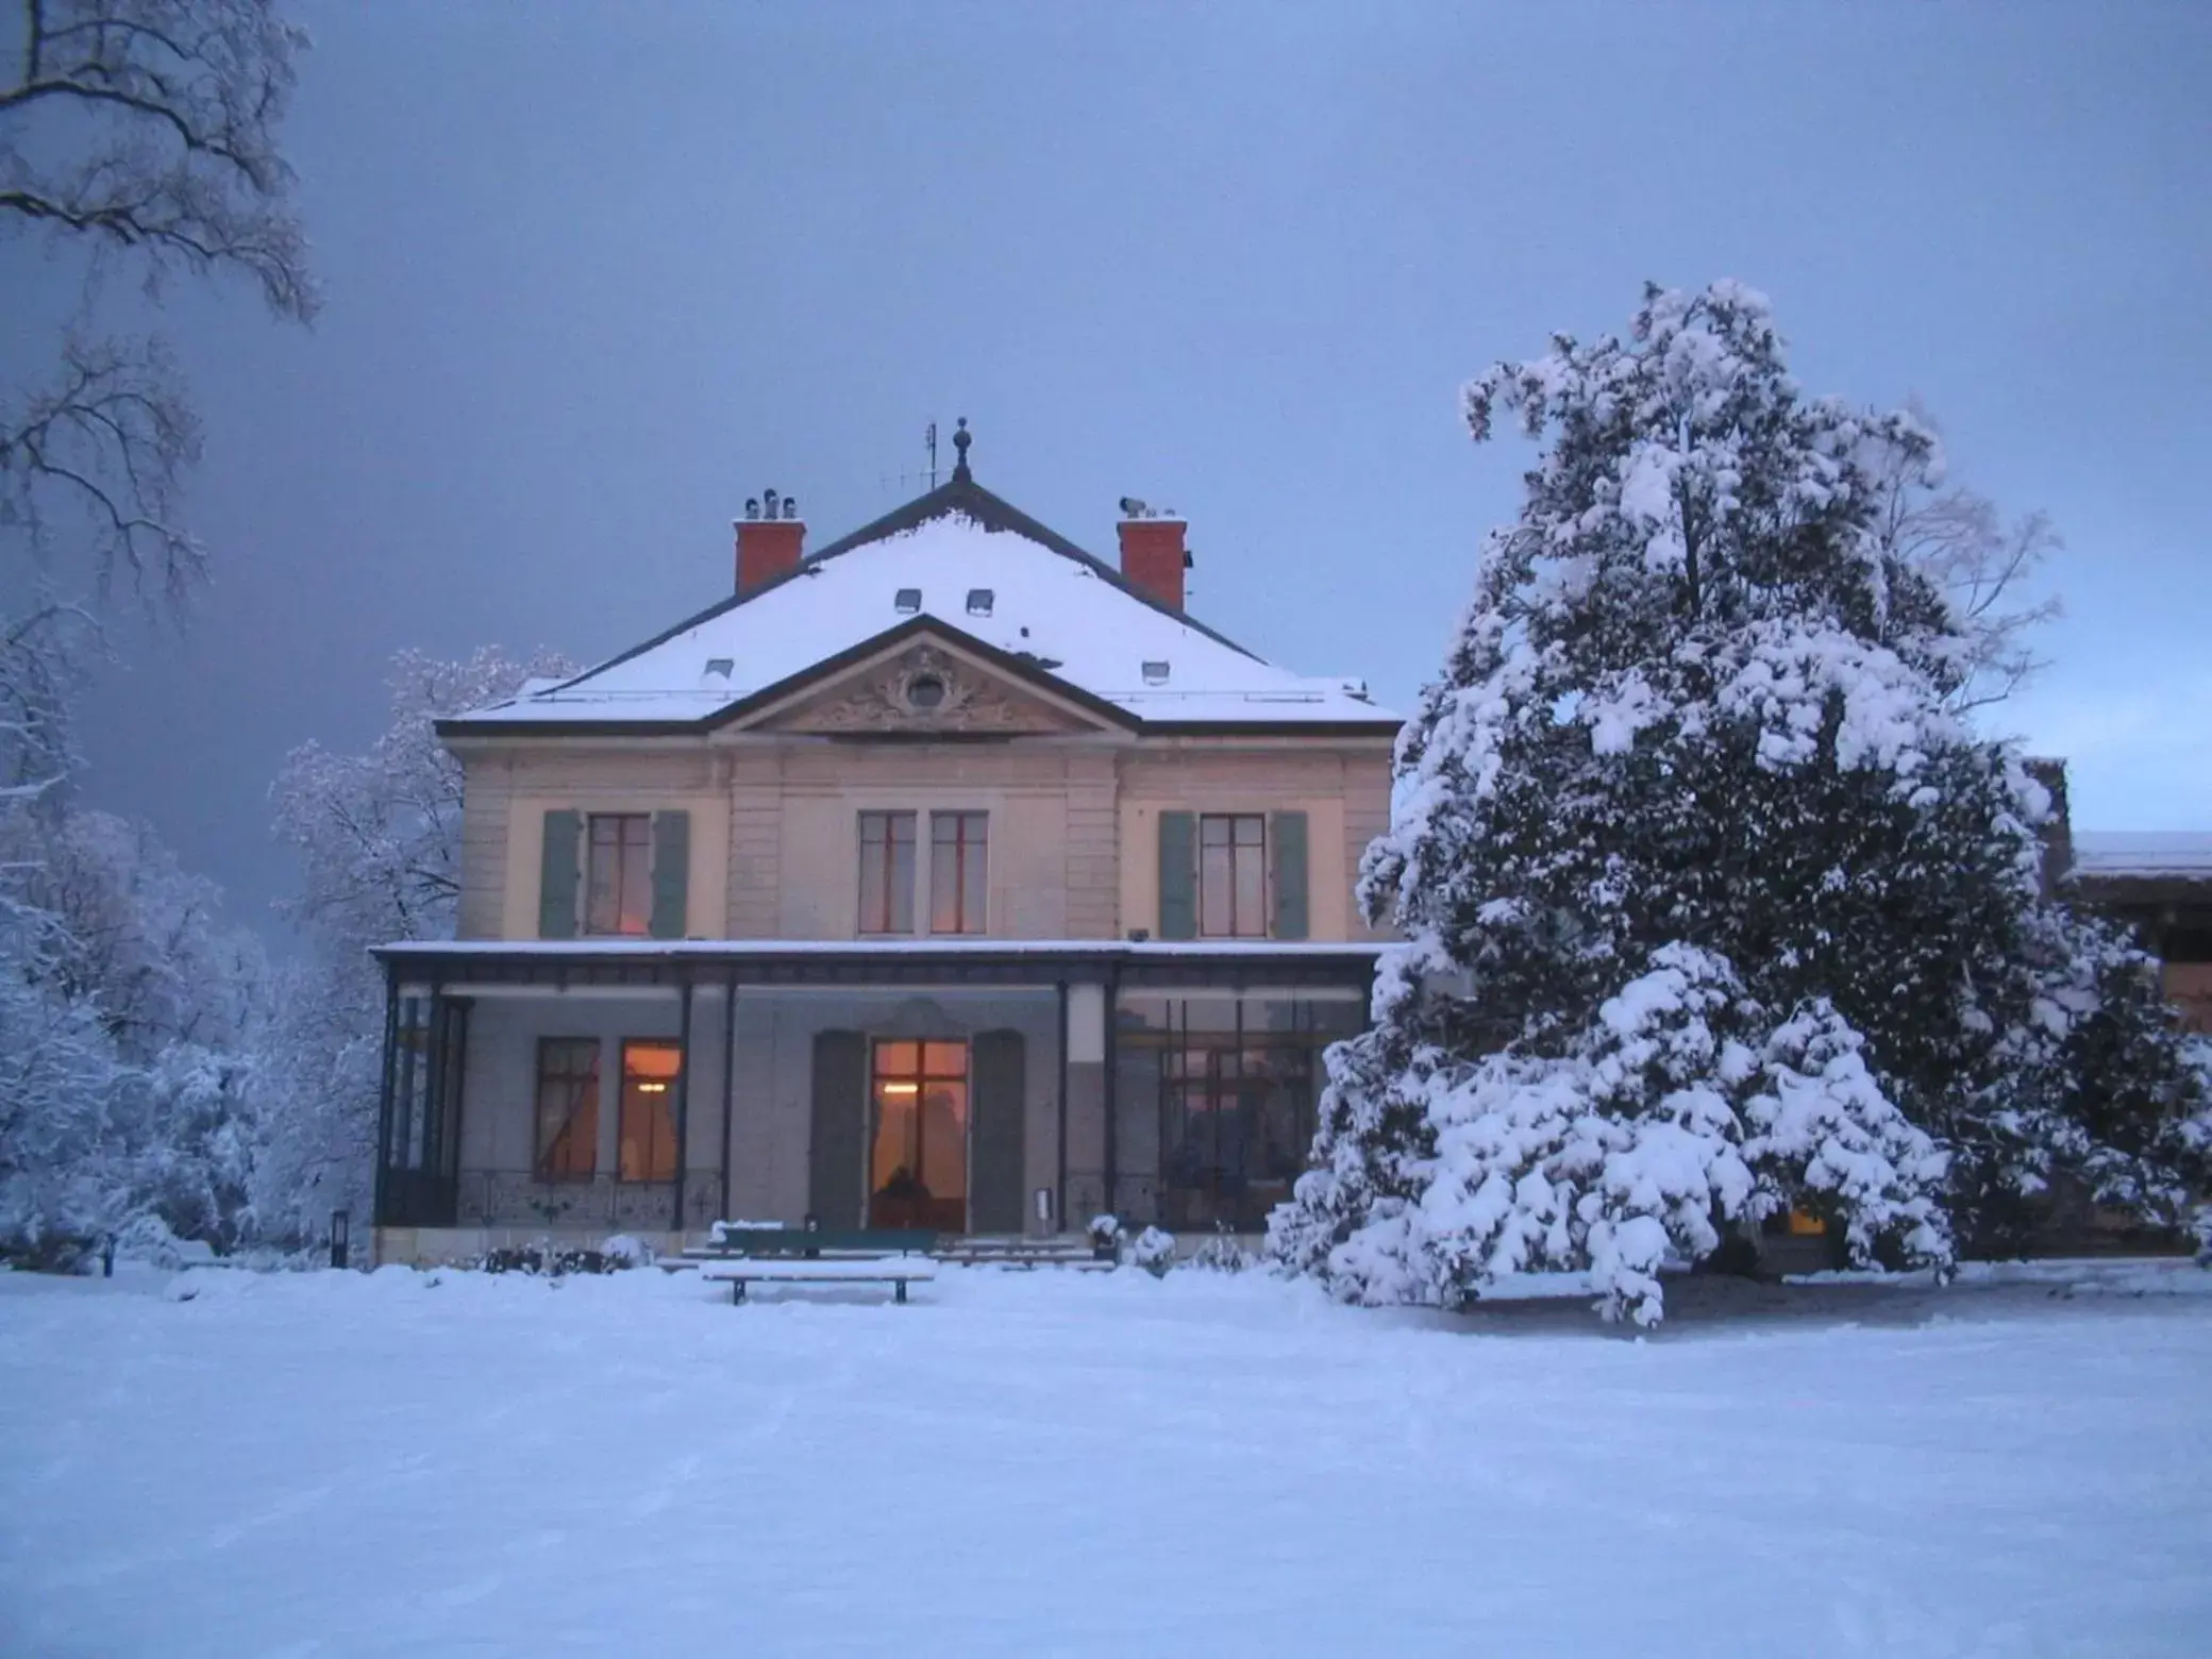
[[[741,721],[812,737],[1053,737],[1108,730],[1088,714],[945,637],[922,633],[825,675]]]

